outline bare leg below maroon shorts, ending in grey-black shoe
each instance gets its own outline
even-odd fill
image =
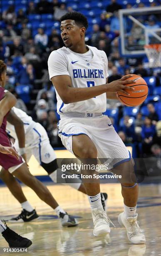
[[[54,209],[57,212],[57,215],[59,216],[63,226],[77,225],[77,221],[71,216],[69,216],[61,207],[59,207],[58,203],[56,202],[54,197],[52,197],[52,194],[47,189],[47,187],[45,187],[45,185],[42,184],[42,182],[36,179],[29,172],[26,163],[24,163],[18,169],[13,171],[12,174],[25,185],[33,189],[42,201],[46,202],[47,205],[50,205],[50,207],[52,207],[52,209]],[[59,209],[57,207],[59,207]]]

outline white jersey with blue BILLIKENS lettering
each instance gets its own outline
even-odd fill
[[[108,61],[104,51],[96,47],[87,46],[93,52],[91,61],[82,59],[77,53],[62,47],[52,51],[48,59],[48,69],[50,79],[57,75],[67,74],[72,79],[74,88],[84,88],[98,86],[106,83],[108,77]],[[106,111],[106,93],[96,96],[89,100],[64,104],[57,91],[57,112],[95,112],[103,113]]]

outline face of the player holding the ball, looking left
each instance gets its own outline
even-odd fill
[[[85,33],[85,28],[77,26],[74,20],[63,20],[61,22],[60,30],[62,40],[68,48],[76,46]]]

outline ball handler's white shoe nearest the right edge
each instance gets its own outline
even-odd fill
[[[118,221],[121,226],[124,226],[127,230],[127,237],[129,241],[134,244],[145,243],[145,235],[139,228],[139,222],[137,221],[138,214],[135,217],[124,217],[124,212],[118,216]]]

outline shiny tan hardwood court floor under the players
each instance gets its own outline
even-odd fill
[[[95,238],[93,223],[86,195],[69,186],[48,184],[47,187],[67,212],[80,216],[79,225],[62,228],[54,211],[42,202],[28,187],[23,191],[40,219],[30,223],[7,223],[10,228],[32,240],[27,253],[7,253],[7,255],[31,256],[158,256],[161,255],[161,184],[142,185],[139,191],[137,212],[140,227],[146,235],[146,245],[133,245],[124,228],[119,226],[118,214],[123,210],[123,200],[119,184],[102,184],[102,192],[107,192],[108,215],[116,225],[111,226],[110,238]],[[6,187],[0,187],[0,219],[20,213],[19,203]],[[6,255],[2,248],[7,243],[0,236],[0,255]]]

